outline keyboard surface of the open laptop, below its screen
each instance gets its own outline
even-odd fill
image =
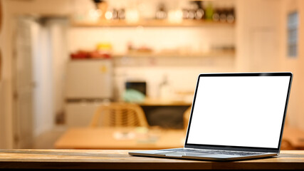
[[[227,150],[202,150],[193,148],[175,148],[175,149],[164,149],[164,151],[172,152],[197,152],[205,154],[221,154],[221,155],[259,155],[261,152],[240,152],[240,151],[227,151]]]

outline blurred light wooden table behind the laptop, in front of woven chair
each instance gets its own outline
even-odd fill
[[[55,143],[57,149],[164,149],[183,147],[184,130],[145,128],[70,128]]]

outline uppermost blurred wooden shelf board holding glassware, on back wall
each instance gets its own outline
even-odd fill
[[[227,23],[221,21],[204,21],[204,20],[183,20],[181,22],[169,22],[166,20],[145,20],[137,22],[127,21],[99,21],[99,22],[72,22],[75,27],[201,27],[201,26],[234,26],[234,23]]]

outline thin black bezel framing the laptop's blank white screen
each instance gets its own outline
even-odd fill
[[[283,120],[281,124],[281,133],[280,133],[280,138],[278,142],[278,147],[276,148],[268,148],[268,147],[243,147],[243,146],[226,146],[226,145],[198,145],[198,144],[191,144],[188,143],[188,136],[189,136],[189,128],[191,126],[191,121],[192,121],[192,114],[193,114],[193,108],[195,105],[195,100],[196,100],[196,93],[198,90],[199,86],[199,81],[201,78],[204,77],[229,77],[229,76],[234,76],[234,77],[242,77],[242,76],[289,76],[289,85],[288,85],[288,93],[286,95],[286,101],[285,101],[285,109],[283,113]],[[289,95],[290,95],[290,88],[291,88],[291,82],[293,79],[293,73],[291,72],[281,72],[281,73],[201,73],[199,74],[196,82],[196,89],[194,92],[194,98],[193,98],[193,103],[192,103],[192,109],[189,117],[189,124],[187,128],[187,135],[185,138],[184,142],[184,147],[189,147],[189,148],[201,148],[201,149],[210,149],[210,150],[236,150],[236,151],[252,151],[252,152],[280,152],[281,148],[281,141],[282,141],[282,136],[283,136],[283,128],[284,128],[284,123],[285,123],[285,116],[286,116],[286,111],[288,107],[288,100],[289,100]]]

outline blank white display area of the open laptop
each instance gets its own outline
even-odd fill
[[[187,143],[277,148],[290,76],[201,77]]]

